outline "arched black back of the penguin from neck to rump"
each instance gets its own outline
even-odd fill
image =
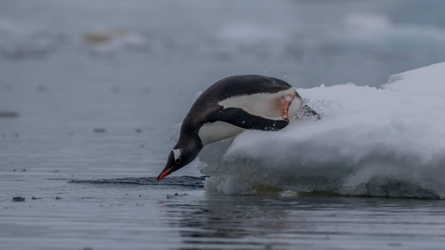
[[[223,78],[207,88],[193,103],[184,119],[181,133],[199,129],[212,113],[221,109],[219,102],[236,96],[276,93],[292,87],[289,83],[261,75],[239,75]],[[197,132],[197,131],[194,131]]]

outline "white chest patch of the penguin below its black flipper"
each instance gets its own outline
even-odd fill
[[[204,147],[211,142],[230,138],[244,130],[244,128],[217,121],[202,125],[198,131],[198,135],[199,138],[201,138],[202,146]]]

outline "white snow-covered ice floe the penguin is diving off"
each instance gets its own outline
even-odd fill
[[[207,145],[199,155],[207,189],[445,197],[445,63],[390,76],[380,88],[298,92],[323,118]]]

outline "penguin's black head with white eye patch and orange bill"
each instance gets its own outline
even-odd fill
[[[179,144],[179,143],[178,143]],[[198,156],[199,151],[202,149],[202,145],[189,141],[185,146],[180,147],[178,144],[170,151],[167,158],[167,165],[164,170],[159,174],[157,181],[162,180],[165,176],[178,170],[181,167],[191,163]]]

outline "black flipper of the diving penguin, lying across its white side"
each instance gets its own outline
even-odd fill
[[[226,122],[245,129],[276,131],[289,124],[283,120],[271,120],[255,116],[241,108],[225,108],[215,116],[216,121]]]

